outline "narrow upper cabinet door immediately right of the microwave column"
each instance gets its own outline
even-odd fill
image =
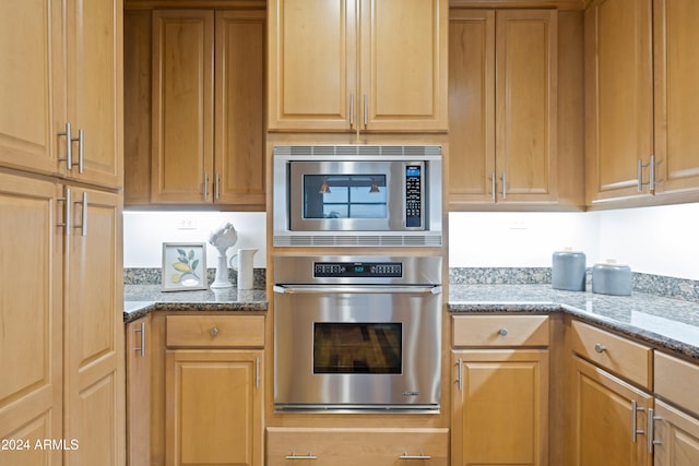
[[[495,193],[495,11],[451,11],[449,203],[491,203]]]

